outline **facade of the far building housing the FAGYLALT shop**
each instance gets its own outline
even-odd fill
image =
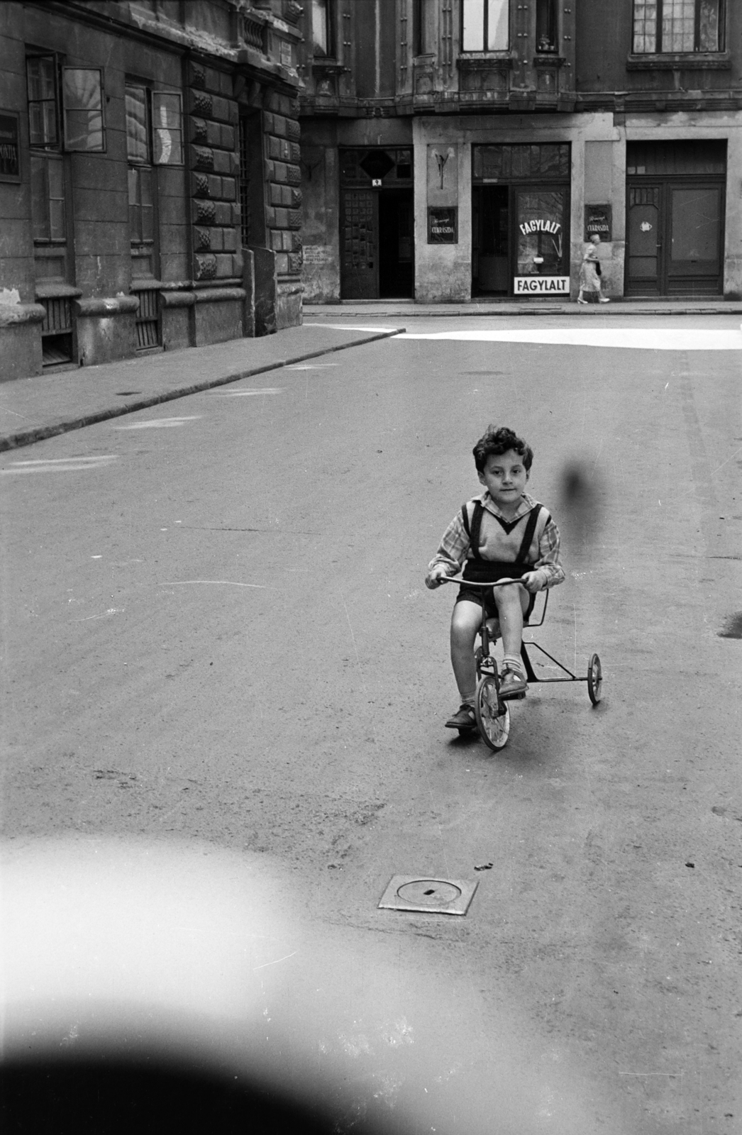
[[[742,5],[306,0],[305,302],[742,296]]]

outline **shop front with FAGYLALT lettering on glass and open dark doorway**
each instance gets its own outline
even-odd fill
[[[472,296],[570,294],[570,143],[472,146]]]

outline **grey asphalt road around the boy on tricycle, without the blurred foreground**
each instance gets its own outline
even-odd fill
[[[505,322],[2,455],[3,836],[264,857],[339,953],[452,1002],[452,1129],[505,1067],[524,1132],[742,1132],[739,320]],[[442,728],[454,594],[423,586],[490,421],[563,531],[533,637],[605,674],[597,708],[532,687],[497,756]],[[379,910],[395,874],[479,888]],[[361,1094],[373,1049],[336,1043]]]

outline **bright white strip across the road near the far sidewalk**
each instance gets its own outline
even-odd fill
[[[742,331],[681,327],[553,327],[541,330],[404,331],[398,339],[466,343],[549,343],[555,346],[631,347],[642,351],[742,351]]]

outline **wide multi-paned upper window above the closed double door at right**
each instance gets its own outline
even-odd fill
[[[636,54],[723,51],[724,0],[634,0]]]

